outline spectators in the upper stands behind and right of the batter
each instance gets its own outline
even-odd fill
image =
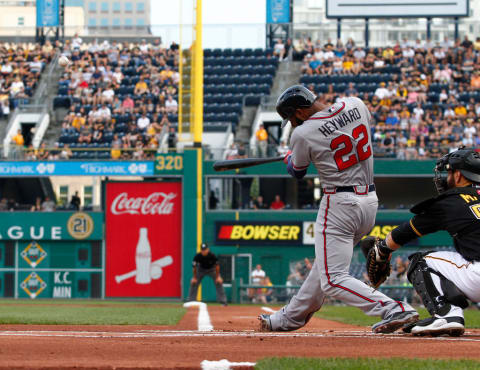
[[[300,80],[326,103],[357,96],[374,117],[375,155],[437,158],[480,146],[480,38],[404,39],[385,48],[300,40]]]

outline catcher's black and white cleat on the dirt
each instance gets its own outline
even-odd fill
[[[404,330],[413,335],[430,335],[437,337],[439,335],[449,335],[459,337],[465,332],[465,320],[463,317],[429,317],[428,319],[418,321],[415,325],[409,325]]]

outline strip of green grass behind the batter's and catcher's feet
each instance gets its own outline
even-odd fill
[[[418,313],[421,319],[430,316],[424,308],[419,308]],[[360,309],[349,306],[323,306],[315,316],[360,326],[371,326],[379,321],[378,317],[367,316]],[[465,310],[465,324],[467,328],[480,328],[480,311],[474,308]]]

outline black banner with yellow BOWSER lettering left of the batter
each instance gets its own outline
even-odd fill
[[[217,221],[217,244],[298,245],[302,244],[302,223],[285,221]]]

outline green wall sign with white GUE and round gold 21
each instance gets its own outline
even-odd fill
[[[0,240],[101,240],[103,214],[1,212]]]

